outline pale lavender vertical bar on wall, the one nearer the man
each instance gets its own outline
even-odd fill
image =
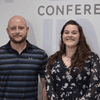
[[[52,19],[43,20],[43,49],[48,55],[52,54]]]

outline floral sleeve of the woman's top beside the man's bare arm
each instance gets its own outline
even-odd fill
[[[54,89],[54,79],[51,74],[47,73],[47,67],[45,70],[45,84],[46,84],[46,92],[49,100],[59,100],[58,95]]]

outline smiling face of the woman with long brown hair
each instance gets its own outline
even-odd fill
[[[80,33],[76,25],[69,24],[65,27],[62,39],[66,47],[76,47],[79,42]]]

